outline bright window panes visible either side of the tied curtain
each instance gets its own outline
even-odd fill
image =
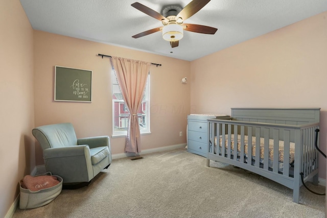
[[[149,78],[150,75],[148,76],[145,92],[143,95],[142,105],[137,113],[141,134],[150,132]],[[125,105],[123,95],[119,89],[116,75],[112,70],[112,135],[127,135],[128,121],[129,111],[127,109],[127,106]]]

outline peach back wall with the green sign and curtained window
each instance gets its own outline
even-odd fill
[[[99,53],[162,64],[150,67],[151,134],[142,135],[142,149],[186,143],[190,85],[181,78],[190,76],[190,62],[41,31],[34,31],[35,126],[71,122],[78,137],[112,135],[111,66]],[[92,103],[54,102],[55,65],[92,70]],[[124,152],[125,138],[110,142],[112,154]]]

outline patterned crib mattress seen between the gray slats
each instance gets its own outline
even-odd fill
[[[228,139],[228,135],[225,135],[225,149],[227,149],[227,139]],[[264,138],[260,138],[260,159],[261,161],[264,159]],[[231,150],[234,150],[234,135],[231,135]],[[252,136],[252,149],[251,149],[251,156],[252,159],[254,159],[255,157],[255,146],[256,143],[256,137]],[[269,139],[269,160],[272,161],[273,160],[273,143],[274,140],[273,139]],[[221,148],[221,144],[222,144],[222,136],[219,137],[219,147]],[[217,146],[217,136],[215,136],[215,148]],[[247,151],[248,151],[248,136],[245,135],[244,136],[244,154],[247,156]],[[278,162],[283,163],[284,162],[284,141],[279,140],[279,149],[278,149]],[[241,152],[241,135],[238,135],[238,139],[237,139],[237,151],[238,154]],[[289,157],[289,163],[292,163],[294,161],[294,153],[295,153],[295,144],[294,142],[290,142],[290,157]]]

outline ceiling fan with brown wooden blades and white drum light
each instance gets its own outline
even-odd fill
[[[141,3],[135,2],[131,6],[155,19],[160,20],[164,26],[147,30],[132,37],[139,38],[151,33],[162,31],[162,38],[169,41],[172,47],[177,47],[179,40],[183,38],[183,30],[195,33],[215,34],[217,28],[191,23],[183,23],[184,20],[193,16],[208,2],[210,2],[210,0],[193,0],[184,8],[176,5],[167,6],[162,9],[162,14],[152,10],[151,8],[148,8],[145,5],[142,5]]]

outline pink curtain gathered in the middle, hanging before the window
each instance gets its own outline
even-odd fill
[[[141,107],[151,63],[118,57],[112,57],[111,63],[130,113],[125,152],[136,154],[141,152],[141,133],[137,111]]]

